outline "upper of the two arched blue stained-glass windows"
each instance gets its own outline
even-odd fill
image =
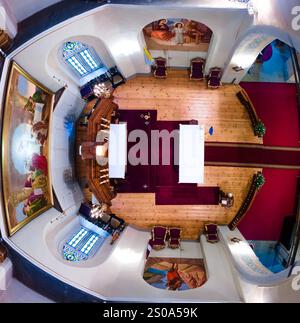
[[[64,43],[63,58],[80,77],[104,67],[96,52],[78,41]]]

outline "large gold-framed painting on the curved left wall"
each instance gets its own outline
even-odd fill
[[[48,136],[53,102],[54,93],[12,63],[2,134],[2,185],[10,235],[53,206]]]

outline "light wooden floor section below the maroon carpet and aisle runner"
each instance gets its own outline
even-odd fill
[[[205,185],[219,186],[224,192],[232,192],[234,205],[230,209],[207,205],[155,205],[155,194],[118,194],[112,201],[112,211],[127,223],[139,228],[151,228],[155,224],[183,228],[183,238],[197,240],[204,224],[215,222],[228,224],[244,201],[252,176],[257,168],[205,167]]]

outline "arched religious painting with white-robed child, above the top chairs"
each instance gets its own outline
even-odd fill
[[[212,31],[194,20],[160,19],[143,29],[149,50],[179,50],[207,52]]]

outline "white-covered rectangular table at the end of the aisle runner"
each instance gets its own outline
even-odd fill
[[[204,183],[204,126],[180,125],[179,183]]]

